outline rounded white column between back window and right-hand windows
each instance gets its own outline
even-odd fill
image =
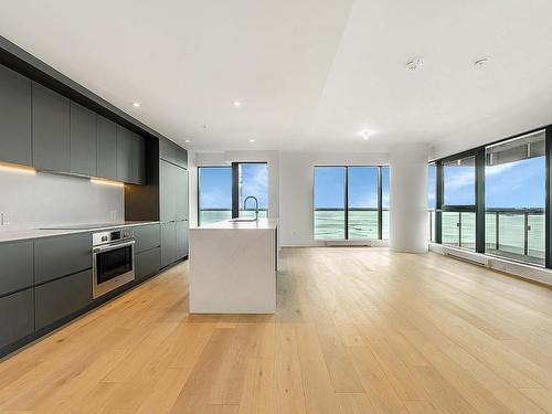
[[[427,146],[407,144],[390,151],[390,247],[427,252]]]

